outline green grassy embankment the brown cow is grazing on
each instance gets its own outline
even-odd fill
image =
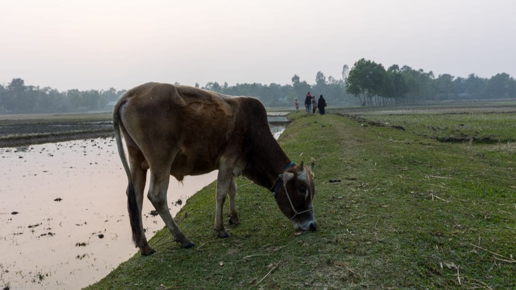
[[[336,115],[293,117],[279,142],[297,163],[318,159],[316,232],[295,235],[270,192],[239,178],[241,223],[218,239],[212,184],[177,216],[196,248],[162,230],[150,241],[157,253],[135,255],[88,289],[516,285],[514,154]]]

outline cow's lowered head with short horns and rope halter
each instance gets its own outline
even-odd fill
[[[283,182],[275,194],[281,212],[291,220],[296,231],[317,229],[312,203],[315,193],[312,173],[314,164],[312,161],[309,167],[301,162],[286,169],[281,177]]]

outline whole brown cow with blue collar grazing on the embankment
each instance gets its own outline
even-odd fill
[[[315,230],[312,200],[313,162],[295,165],[270,133],[262,103],[254,98],[230,98],[202,89],[147,83],[120,96],[113,109],[118,153],[127,174],[127,208],[133,240],[142,255],[152,254],[141,221],[147,169],[149,193],[156,211],[184,248],[195,246],[174,222],[167,205],[169,176],[219,170],[215,230],[230,237],[222,222],[229,195],[229,222],[238,223],[235,176],[243,174],[272,191],[281,212],[296,231]],[[121,133],[125,139],[128,162]]]

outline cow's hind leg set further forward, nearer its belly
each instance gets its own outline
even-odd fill
[[[191,248],[195,246],[188,238],[183,235],[178,225],[170,215],[167,205],[167,189],[170,181],[170,166],[165,167],[167,170],[153,172],[151,167],[151,181],[149,184],[149,194],[147,197],[152,202],[159,216],[167,225],[167,228],[172,232],[174,239],[179,241],[183,248]]]

